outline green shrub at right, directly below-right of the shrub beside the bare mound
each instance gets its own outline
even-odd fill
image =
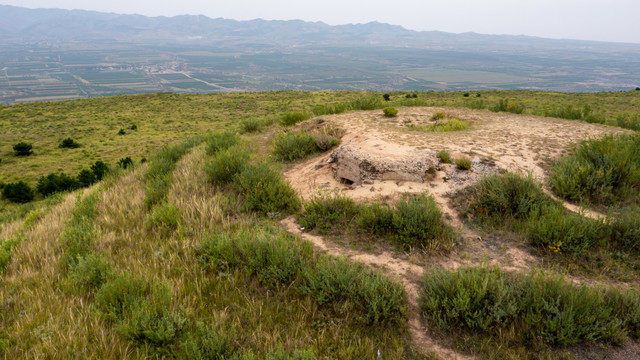
[[[602,220],[567,213],[560,206],[533,209],[527,226],[527,237],[533,246],[573,256],[604,245],[609,237]]]

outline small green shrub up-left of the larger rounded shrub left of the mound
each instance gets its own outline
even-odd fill
[[[205,172],[214,184],[228,184],[249,163],[249,152],[234,145],[216,152],[205,164]]]

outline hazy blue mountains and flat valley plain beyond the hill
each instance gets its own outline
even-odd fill
[[[28,56],[29,51],[39,56]],[[25,70],[34,60],[43,66]],[[78,87],[73,95],[78,97],[156,90],[600,91],[640,85],[640,44],[418,32],[377,22],[330,26],[5,5],[0,5],[0,61],[7,78],[0,80],[4,102],[33,97],[28,86],[11,85],[28,79],[11,77],[35,73]],[[144,87],[119,88],[85,79],[79,64],[83,73],[129,71],[149,79]],[[52,68],[56,71],[45,71]],[[176,87],[174,79],[153,76],[171,72],[198,84]],[[333,80],[324,81],[328,78]],[[224,83],[229,79],[233,84]]]

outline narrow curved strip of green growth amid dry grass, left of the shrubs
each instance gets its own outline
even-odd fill
[[[145,173],[147,186],[145,188],[144,203],[147,208],[151,209],[153,205],[162,202],[166,198],[171,183],[171,172],[175,168],[176,162],[200,142],[200,138],[192,138],[179,145],[164,146],[162,150],[151,158]]]

